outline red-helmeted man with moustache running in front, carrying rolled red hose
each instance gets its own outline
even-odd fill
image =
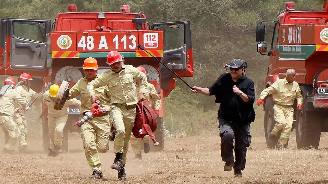
[[[112,67],[104,71],[97,79],[87,86],[92,103],[96,96],[94,88],[108,86],[111,94],[111,120],[116,129],[114,139],[115,159],[111,168],[118,171],[118,179],[126,179],[125,163],[129,148],[131,131],[136,116],[136,104],[138,100],[146,100],[144,93],[147,85],[147,77],[137,68],[131,65],[123,65],[123,57],[117,51],[111,51],[107,55],[107,63]],[[134,78],[140,80],[139,99],[136,94]]]

